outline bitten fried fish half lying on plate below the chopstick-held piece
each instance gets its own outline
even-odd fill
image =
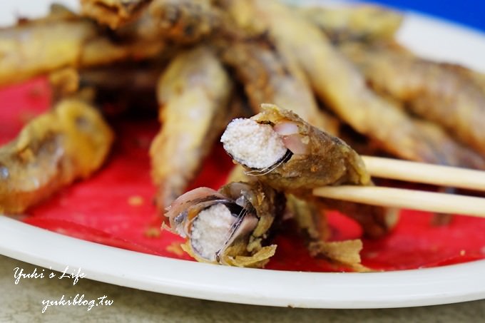
[[[266,245],[284,195],[261,183],[230,183],[215,191],[196,188],[165,214],[170,230],[187,238],[183,250],[200,262],[263,267],[276,245]]]

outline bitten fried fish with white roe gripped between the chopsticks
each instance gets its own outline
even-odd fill
[[[318,130],[292,111],[265,104],[250,119],[235,119],[221,142],[250,178],[297,198],[315,200],[312,189],[325,185],[372,185],[360,156],[337,137]],[[396,213],[384,207],[319,200],[344,210],[369,237],[389,232]]]

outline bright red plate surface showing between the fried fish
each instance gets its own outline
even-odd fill
[[[46,111],[50,91],[44,79],[0,90],[0,143],[14,138],[21,125]],[[180,237],[160,232],[153,205],[148,147],[158,130],[155,120],[116,121],[116,144],[106,165],[88,180],[74,183],[29,210],[23,221],[47,230],[163,257],[190,260]],[[220,146],[213,149],[191,188],[218,188],[233,166]],[[392,234],[364,240],[362,262],[376,270],[449,265],[485,258],[485,220],[457,216],[449,225],[432,225],[432,214],[402,211]],[[329,216],[333,240],[359,237],[361,230],[337,212]],[[285,227],[275,237],[277,253],[267,268],[332,271],[324,260],[308,255],[302,241]]]

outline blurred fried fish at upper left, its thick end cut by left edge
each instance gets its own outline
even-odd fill
[[[56,71],[150,58],[163,41],[111,39],[88,19],[62,16],[0,29],[0,85]]]

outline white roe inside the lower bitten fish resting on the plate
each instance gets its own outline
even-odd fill
[[[223,204],[215,204],[201,211],[192,224],[190,240],[193,249],[203,258],[215,261],[216,253],[230,238],[236,218]]]

